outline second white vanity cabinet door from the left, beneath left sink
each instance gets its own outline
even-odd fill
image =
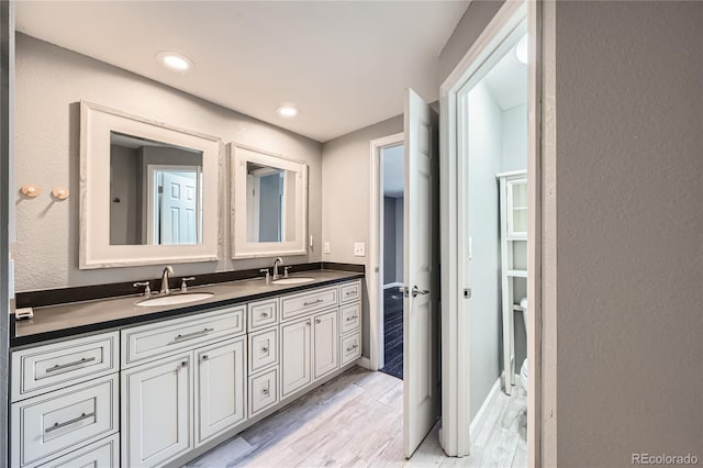
[[[246,420],[246,338],[196,352],[196,445]]]

